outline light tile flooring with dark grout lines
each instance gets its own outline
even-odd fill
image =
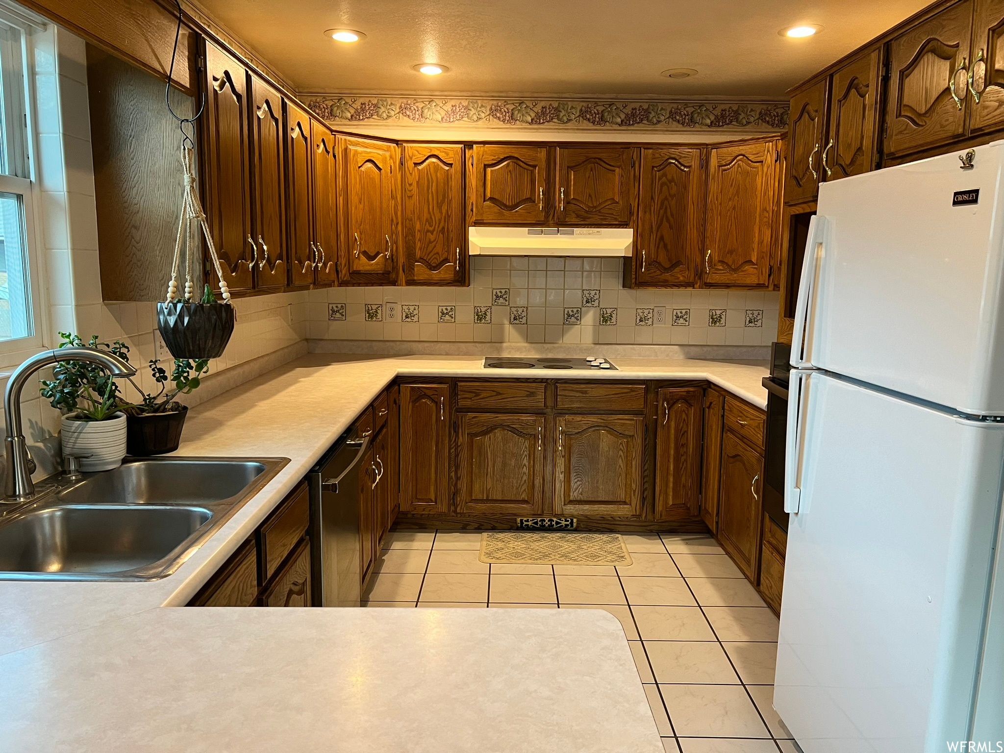
[[[487,565],[480,531],[396,531],[365,606],[606,609],[672,753],[797,753],[771,708],[777,618],[709,536],[622,534],[634,564]]]

